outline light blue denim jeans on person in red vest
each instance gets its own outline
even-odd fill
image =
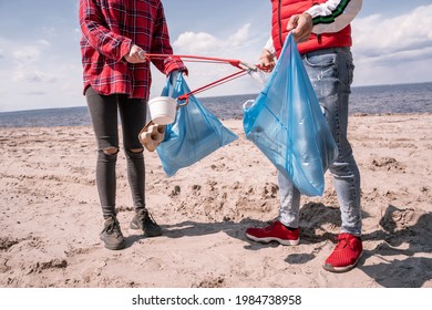
[[[326,49],[302,55],[305,68],[339,148],[329,167],[341,213],[341,232],[361,235],[360,173],[347,137],[348,102],[353,64],[349,48]],[[279,220],[299,226],[300,193],[289,179],[278,174]]]

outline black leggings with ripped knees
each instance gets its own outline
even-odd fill
[[[145,125],[146,102],[123,94],[101,95],[92,87],[85,91],[90,116],[97,141],[96,185],[104,218],[115,216],[115,166],[119,153],[119,114],[123,146],[127,159],[127,178],[135,210],[145,208],[145,166],[138,134]],[[115,149],[114,154],[106,149]],[[134,149],[134,152],[131,152]],[[141,152],[136,152],[141,149]]]

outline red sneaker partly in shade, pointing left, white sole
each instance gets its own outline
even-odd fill
[[[246,237],[258,242],[278,241],[284,246],[297,246],[300,241],[299,229],[288,229],[279,220],[265,228],[248,228]]]

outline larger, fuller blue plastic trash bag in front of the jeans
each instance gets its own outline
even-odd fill
[[[264,90],[245,104],[244,130],[301,194],[320,196],[338,148],[291,37]]]

